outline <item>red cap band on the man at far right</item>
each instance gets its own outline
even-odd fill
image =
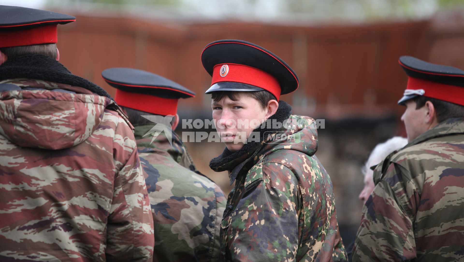
[[[424,89],[424,96],[464,106],[464,87],[409,77],[407,89]]]

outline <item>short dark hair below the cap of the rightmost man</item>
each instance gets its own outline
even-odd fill
[[[413,98],[412,100],[416,102],[416,109],[425,106],[425,102],[427,101],[432,102],[438,123],[450,118],[464,118],[464,106],[421,95]]]

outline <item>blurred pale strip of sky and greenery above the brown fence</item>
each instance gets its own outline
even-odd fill
[[[464,0],[48,0],[52,5],[99,4],[175,10],[204,18],[262,20],[419,19]]]

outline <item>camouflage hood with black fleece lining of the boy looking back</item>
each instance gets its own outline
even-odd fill
[[[247,143],[236,152],[224,152],[210,162],[216,171],[229,171],[231,184],[240,171],[247,170],[264,159],[265,156],[281,149],[291,149],[313,156],[317,151],[317,130],[314,119],[291,115],[292,107],[284,101],[279,102],[279,109],[270,119],[283,123],[281,128],[272,129],[261,126],[254,132],[260,135],[260,142]]]

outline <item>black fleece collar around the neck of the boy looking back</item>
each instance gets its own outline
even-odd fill
[[[290,118],[291,110],[292,107],[289,104],[284,100],[280,100],[277,112],[269,119],[275,119],[277,122],[283,123],[286,119]],[[257,154],[264,145],[264,132],[277,132],[282,128],[272,129],[259,126],[254,132],[259,132],[260,142],[246,143],[242,149],[234,152],[226,148],[220,156],[213,158],[209,162],[209,167],[216,172],[229,171],[229,179],[232,185],[239,171],[245,165],[252,165],[258,161]]]

